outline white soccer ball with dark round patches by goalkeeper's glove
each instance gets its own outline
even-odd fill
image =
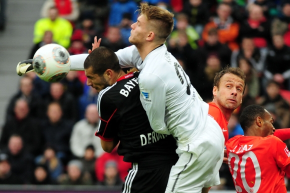
[[[32,65],[40,79],[57,82],[64,78],[70,69],[69,53],[59,44],[46,44],[35,52]]]

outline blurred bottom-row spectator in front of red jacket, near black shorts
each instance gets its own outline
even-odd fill
[[[122,180],[118,175],[118,167],[116,161],[108,160],[105,163],[104,180],[99,181],[97,184],[104,186],[114,186],[123,184]]]

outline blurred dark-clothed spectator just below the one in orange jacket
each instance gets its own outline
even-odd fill
[[[203,64],[206,62],[206,58],[211,53],[217,54],[222,67],[230,64],[231,50],[229,49],[227,44],[223,44],[218,41],[218,34],[216,28],[211,28],[208,30],[208,36],[206,41],[203,45],[198,47],[195,52],[195,61],[197,61],[199,67],[203,66]]]

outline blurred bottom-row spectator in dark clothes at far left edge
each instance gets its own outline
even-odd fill
[[[12,174],[8,155],[0,153],[0,184],[21,184],[17,175]]]

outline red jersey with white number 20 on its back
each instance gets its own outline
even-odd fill
[[[279,138],[236,135],[226,143],[228,166],[241,193],[284,193],[290,152]]]

